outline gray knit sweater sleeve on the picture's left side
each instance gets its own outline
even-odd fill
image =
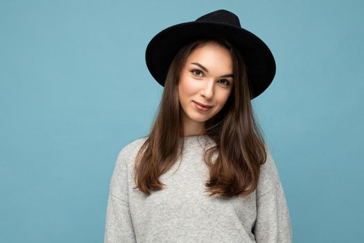
[[[116,160],[110,182],[110,194],[107,202],[105,243],[137,242],[135,240],[132,217],[128,199],[128,171],[125,149],[121,150]]]

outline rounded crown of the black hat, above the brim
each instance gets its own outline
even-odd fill
[[[239,17],[236,16],[234,12],[230,12],[224,9],[209,12],[207,15],[203,15],[196,19],[196,22],[214,22],[241,27]]]

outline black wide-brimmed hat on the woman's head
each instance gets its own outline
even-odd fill
[[[275,59],[267,45],[241,27],[239,17],[227,10],[209,12],[193,22],[175,24],[155,35],[146,48],[146,65],[162,86],[171,61],[184,44],[205,37],[224,37],[243,56],[247,67],[251,99],[258,97],[272,83]]]

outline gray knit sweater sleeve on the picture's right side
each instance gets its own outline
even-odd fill
[[[257,220],[253,229],[255,240],[256,242],[291,243],[292,228],[286,196],[270,151],[263,168],[265,168],[263,176],[268,179],[262,182],[257,196]]]

